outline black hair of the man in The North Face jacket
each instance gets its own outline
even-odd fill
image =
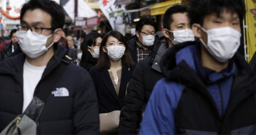
[[[30,0],[25,3],[20,12],[20,21],[27,10],[41,9],[51,15],[51,27],[53,29],[63,28],[65,23],[65,14],[63,8],[52,0]]]

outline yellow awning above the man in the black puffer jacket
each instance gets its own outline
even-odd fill
[[[151,15],[159,15],[159,14],[164,14],[165,11],[174,5],[181,4],[181,0],[172,0],[172,1],[167,1],[167,2],[162,2],[159,4],[154,5],[151,7]]]

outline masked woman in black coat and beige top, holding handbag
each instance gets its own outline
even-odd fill
[[[120,110],[132,72],[133,61],[124,36],[117,31],[107,33],[100,44],[98,64],[90,70],[98,95],[100,133],[117,133]],[[101,115],[112,120],[118,119],[115,130],[105,129],[102,132],[113,123],[105,121]],[[102,124],[104,122],[108,124]]]

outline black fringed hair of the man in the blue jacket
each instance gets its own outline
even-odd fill
[[[240,22],[243,21],[245,15],[245,6],[242,0],[190,0],[189,5],[188,17],[190,19],[190,27],[193,24],[202,26],[205,16],[216,13],[219,17],[224,9],[231,13],[237,13]]]

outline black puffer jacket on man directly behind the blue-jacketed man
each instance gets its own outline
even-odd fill
[[[119,134],[137,134],[142,119],[141,115],[151,92],[157,81],[163,78],[159,65],[167,48],[167,41],[155,46],[152,56],[143,59],[136,65],[120,114]]]

